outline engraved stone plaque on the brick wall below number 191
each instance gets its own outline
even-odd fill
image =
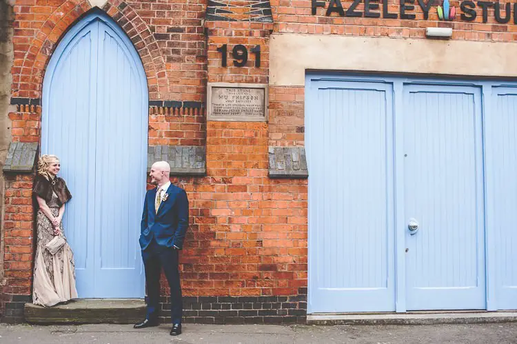
[[[209,83],[209,121],[267,121],[267,85]]]

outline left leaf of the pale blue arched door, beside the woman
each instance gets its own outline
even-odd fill
[[[92,296],[94,289],[93,253],[88,250],[94,244],[94,233],[88,231],[94,213],[88,190],[94,180],[89,178],[91,160],[85,157],[94,152],[89,132],[95,103],[88,95],[97,92],[96,81],[90,77],[96,74],[93,57],[97,34],[97,25],[70,34],[69,43],[59,45],[50,60],[43,84],[41,152],[59,156],[60,174],[72,192],[63,226],[74,251],[77,292],[83,297]]]

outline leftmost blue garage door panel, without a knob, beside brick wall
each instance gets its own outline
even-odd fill
[[[392,85],[307,82],[309,312],[394,311]]]

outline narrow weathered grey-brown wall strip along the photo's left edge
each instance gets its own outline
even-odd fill
[[[14,0],[0,0],[0,171],[6,161],[10,139],[9,118],[10,97],[12,83],[12,60],[14,50],[12,46],[12,21]],[[0,285],[3,285],[3,192],[5,179],[0,173]]]

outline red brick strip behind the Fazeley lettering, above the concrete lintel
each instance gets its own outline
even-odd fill
[[[389,12],[398,14],[400,18],[400,1],[388,0]],[[429,0],[433,1],[433,0]],[[483,12],[476,8],[475,21],[467,22],[460,19],[457,12],[454,21],[440,21],[436,12],[436,6],[429,10],[429,19],[425,20],[423,11],[414,1],[414,10],[407,11],[416,14],[416,19],[383,19],[365,17],[339,17],[334,12],[329,17],[325,15],[329,1],[325,2],[325,8],[317,8],[316,15],[312,15],[311,0],[271,0],[275,32],[295,32],[301,34],[345,34],[354,36],[387,36],[387,37],[412,37],[424,38],[427,27],[451,27],[452,39],[471,41],[515,41],[517,39],[517,26],[513,20],[513,3],[515,0],[507,0],[504,3],[512,3],[512,17],[509,23],[501,24],[494,19],[494,8],[490,8],[487,23],[483,23]],[[354,1],[342,0],[345,11],[352,6]],[[377,2],[378,3],[378,2]],[[427,3],[427,1],[425,1]],[[501,1],[503,3],[503,1]],[[450,1],[451,6],[459,10],[460,1]],[[505,8],[501,6],[502,16],[505,16]],[[363,12],[364,3],[361,2],[356,10]],[[372,12],[382,13],[380,10]]]

